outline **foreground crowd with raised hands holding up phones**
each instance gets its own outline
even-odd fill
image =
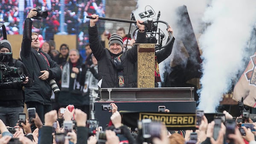
[[[112,115],[106,118],[110,123],[103,131],[96,126],[97,123],[88,121],[86,113],[80,109],[70,111],[66,107],[64,112],[60,109],[58,112],[56,110],[47,112],[44,124],[37,114],[32,121],[29,122],[27,118],[26,122],[21,123],[22,127],[18,124],[14,128],[6,127],[0,120],[0,143],[10,144],[9,141],[19,141],[21,144],[256,144],[256,122],[248,118],[248,121],[243,123],[252,124],[253,127],[241,126],[239,119],[243,116],[234,118],[226,111],[221,112],[225,120],[221,121],[217,131],[215,121],[209,121],[203,115],[198,130],[186,130],[185,135],[181,135],[168,131],[164,123],[159,123],[159,127],[152,130],[151,123],[148,125],[148,130],[156,135],[145,138],[145,127],[142,127],[140,122],[136,131],[131,132],[128,126],[122,124],[122,116],[116,104],[110,105],[113,107],[109,110]],[[168,112],[169,110],[166,109],[165,113]],[[73,115],[75,120],[72,121]],[[234,125],[230,126],[227,121],[233,121]],[[71,128],[67,125],[70,122],[73,123]],[[37,127],[34,131],[30,129],[31,123]]]

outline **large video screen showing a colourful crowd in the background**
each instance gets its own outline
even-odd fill
[[[19,34],[19,23],[23,23],[29,10],[41,7],[42,10],[48,11],[48,17],[42,19],[43,23],[38,26],[40,29],[33,30],[40,30],[41,35],[47,33],[44,40],[53,40],[53,35],[60,32],[60,18],[61,14],[64,14],[64,32],[79,36],[79,48],[89,42],[87,25],[90,20],[86,16],[99,14],[100,17],[105,17],[105,0],[64,0],[64,12],[60,11],[60,0],[24,0],[24,12],[20,12],[18,2],[19,0],[1,0],[0,3],[0,23],[5,24],[8,35]],[[105,28],[104,25],[101,26],[99,30],[103,32]]]

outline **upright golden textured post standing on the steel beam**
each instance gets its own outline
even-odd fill
[[[155,44],[139,44],[138,46],[138,88],[154,88]]]

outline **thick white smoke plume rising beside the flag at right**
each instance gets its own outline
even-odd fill
[[[244,49],[256,20],[255,5],[255,0],[212,0],[206,9],[203,20],[210,25],[199,39],[203,76],[198,109],[215,112],[230,89],[243,65]]]

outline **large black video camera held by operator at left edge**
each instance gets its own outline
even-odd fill
[[[12,52],[0,53],[0,86],[26,80],[22,68],[7,65],[10,60],[12,60]]]

